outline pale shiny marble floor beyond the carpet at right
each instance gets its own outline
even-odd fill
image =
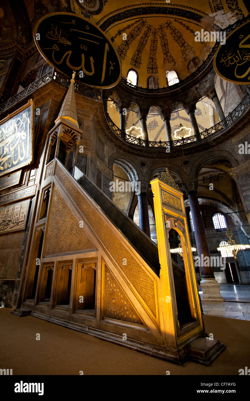
[[[205,315],[250,320],[250,285],[221,284],[220,293],[225,302],[201,302]],[[202,300],[201,287],[199,294]]]

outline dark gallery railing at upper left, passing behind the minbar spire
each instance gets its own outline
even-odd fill
[[[30,83],[30,85],[28,85],[25,89],[10,97],[6,102],[2,103],[0,105],[0,113],[11,107],[18,101],[24,99],[31,93],[35,92],[37,89],[50,81],[55,81],[60,85],[65,86],[66,88],[68,88],[70,84],[70,78],[66,78],[62,74],[52,69],[47,74],[37,79],[37,81]],[[89,86],[85,86],[81,82],[75,83],[75,91],[80,95],[91,97],[92,99],[102,99],[102,91],[100,89],[94,89]]]

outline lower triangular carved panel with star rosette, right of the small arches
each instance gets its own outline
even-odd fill
[[[104,316],[124,322],[143,324],[107,266],[105,266]]]

